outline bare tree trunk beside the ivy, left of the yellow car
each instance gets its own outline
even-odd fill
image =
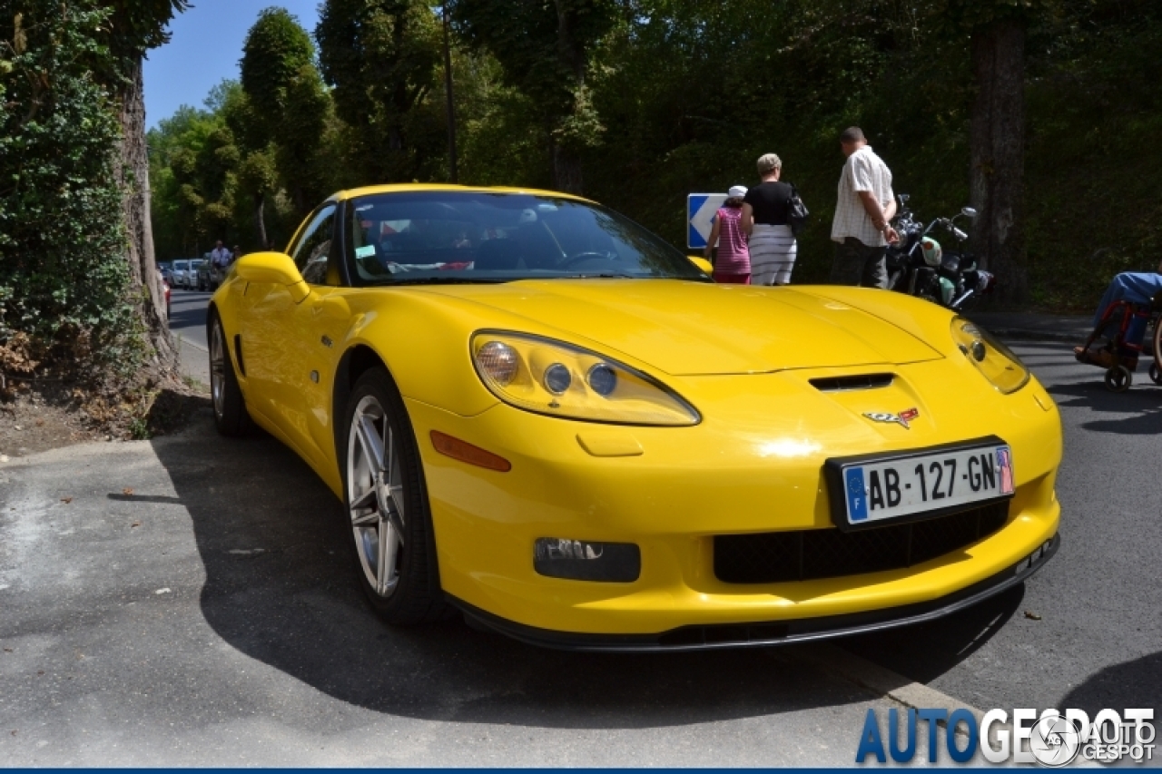
[[[158,370],[168,375],[178,371],[178,352],[170,338],[165,317],[165,292],[153,256],[153,224],[150,220],[149,149],[145,145],[145,99],[142,62],[137,59],[128,83],[121,89],[121,174],[124,200],[130,292],[137,301],[137,315],[152,344]]]

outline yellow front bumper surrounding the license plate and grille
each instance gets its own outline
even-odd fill
[[[1035,381],[1013,395],[980,396],[976,410],[966,413],[957,390],[912,387],[946,377],[940,364],[895,371],[890,389],[835,395],[803,388],[815,372],[754,377],[741,384],[753,385],[753,393],[737,400],[711,394],[718,385],[723,395],[737,395],[736,380],[675,384],[696,406],[715,403],[691,428],[611,428],[503,404],[465,417],[407,400],[442,586],[494,629],[540,644],[562,638],[602,650],[669,650],[683,637],[690,647],[832,637],[971,604],[1055,540],[1060,418]],[[876,406],[919,406],[923,418],[905,430],[860,416]],[[498,473],[444,457],[428,439],[431,430],[501,454],[512,468]],[[1017,460],[1016,496],[996,531],[894,569],[761,583],[717,575],[717,536],[833,529],[823,474],[827,458],[990,432],[1012,446]],[[588,453],[582,436],[589,433],[612,442],[629,436],[640,451]],[[546,578],[533,567],[538,538],[636,544],[640,576],[627,583]]]

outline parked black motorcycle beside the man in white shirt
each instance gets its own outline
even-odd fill
[[[969,301],[992,289],[996,278],[976,265],[976,257],[964,252],[968,234],[956,220],[976,217],[976,210],[964,207],[948,218],[938,217],[925,228],[908,207],[908,194],[899,194],[898,213],[892,225],[899,242],[888,246],[888,289],[914,295],[959,311]],[[942,229],[956,241],[955,251],[945,252],[932,236]]]

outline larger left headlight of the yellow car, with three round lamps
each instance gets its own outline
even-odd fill
[[[496,397],[588,422],[684,427],[697,410],[660,381],[596,352],[529,334],[479,331],[472,361]]]

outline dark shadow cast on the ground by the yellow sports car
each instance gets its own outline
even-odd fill
[[[344,702],[419,718],[624,729],[871,697],[765,650],[586,654],[522,645],[458,618],[388,626],[356,583],[335,496],[278,442],[223,439],[209,423],[203,410],[181,436],[153,442],[193,522],[203,615],[241,652]],[[996,607],[932,630],[963,658],[989,637]],[[1012,608],[1002,605],[1004,615]]]

